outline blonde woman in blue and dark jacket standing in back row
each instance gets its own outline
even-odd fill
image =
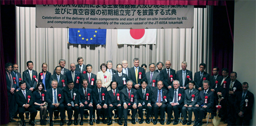
[[[38,74],[38,82],[42,82],[44,85],[44,90],[47,90],[51,88],[50,84],[50,78],[51,78],[51,73],[47,71],[47,63],[42,64],[42,72]]]

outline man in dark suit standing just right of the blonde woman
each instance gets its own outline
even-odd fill
[[[55,71],[56,71],[55,74],[53,74],[51,76],[50,82],[52,82],[53,80],[57,80],[58,88],[66,87],[67,86],[67,78],[66,78],[65,75],[61,74],[61,67],[60,66],[56,66],[55,67]]]

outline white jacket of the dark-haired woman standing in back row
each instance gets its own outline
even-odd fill
[[[107,82],[104,81],[104,75],[107,76]],[[104,85],[108,91],[111,89],[110,88],[110,83],[111,83],[111,74],[106,71],[105,73],[103,73],[102,71],[97,73],[97,79],[101,79],[102,80],[102,85]],[[96,83],[95,83],[96,84]]]

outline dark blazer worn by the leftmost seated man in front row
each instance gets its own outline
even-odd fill
[[[30,101],[27,103],[28,95],[30,96]],[[16,98],[16,103],[18,104],[19,107],[22,107],[24,104],[29,104],[31,107],[34,106],[34,97],[33,97],[32,92],[29,89],[26,89],[26,99],[21,90],[16,92],[15,98]]]

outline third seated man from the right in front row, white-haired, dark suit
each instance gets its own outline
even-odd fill
[[[183,101],[185,98],[184,89],[179,88],[180,82],[178,80],[175,80],[173,82],[173,88],[170,88],[168,91],[168,105],[167,105],[167,113],[168,113],[168,121],[167,125],[171,123],[171,115],[172,111],[174,111],[174,123],[173,125],[178,124],[178,118],[179,118],[179,110],[183,107]]]

